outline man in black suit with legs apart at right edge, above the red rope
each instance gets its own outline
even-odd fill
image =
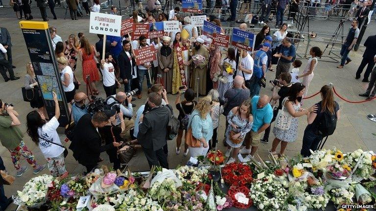
[[[363,53],[363,59],[359,65],[358,71],[356,71],[355,79],[360,78],[360,74],[363,72],[364,67],[368,64],[362,82],[369,82],[368,77],[370,76],[372,68],[375,65],[374,55],[376,54],[376,35],[369,36],[366,42],[364,42],[364,46],[366,46],[366,50]]]

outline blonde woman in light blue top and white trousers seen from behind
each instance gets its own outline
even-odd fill
[[[209,150],[208,142],[213,136],[213,122],[210,111],[213,106],[210,96],[201,98],[190,114],[188,129],[192,128],[192,136],[201,142],[201,147],[189,147],[191,157],[206,155]]]

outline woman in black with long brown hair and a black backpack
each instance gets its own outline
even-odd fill
[[[315,151],[319,146],[320,141],[323,139],[322,135],[316,134],[317,126],[321,122],[321,119],[324,117],[324,112],[329,112],[331,115],[334,115],[339,119],[339,105],[334,101],[333,89],[330,85],[324,85],[320,89],[321,101],[316,104],[317,110],[311,112],[307,117],[308,125],[305,127],[304,136],[303,136],[303,146],[300,153],[303,157],[308,157],[311,155],[312,151]]]

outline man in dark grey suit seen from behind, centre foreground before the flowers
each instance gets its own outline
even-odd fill
[[[167,156],[163,147],[167,144],[167,125],[172,108],[161,106],[162,96],[152,92],[147,100],[151,111],[140,118],[139,140],[149,166],[161,166],[168,169]],[[168,110],[170,109],[170,110]]]

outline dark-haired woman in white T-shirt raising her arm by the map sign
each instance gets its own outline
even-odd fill
[[[55,102],[55,116],[49,122],[43,113],[33,110],[26,116],[27,134],[39,146],[47,161],[47,167],[52,176],[57,177],[67,173],[64,160],[64,146],[56,132],[59,127],[60,108],[55,92],[52,92]]]

